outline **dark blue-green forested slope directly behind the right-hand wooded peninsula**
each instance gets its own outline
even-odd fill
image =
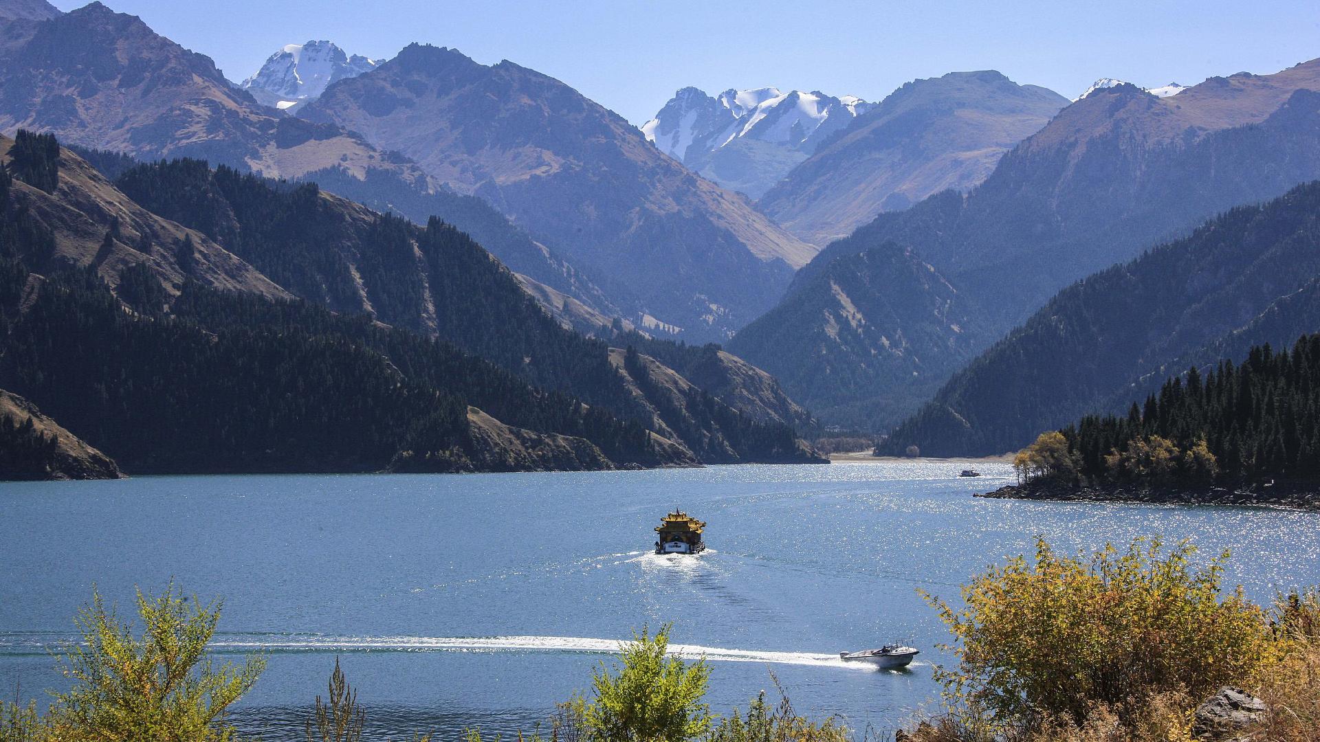
[[[1081,415],[1122,413],[1188,364],[1287,347],[1320,327],[1317,240],[1312,182],[1088,276],[956,374],[883,450],[1014,450]]]

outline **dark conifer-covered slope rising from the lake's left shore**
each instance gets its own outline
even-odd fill
[[[651,420],[649,408],[636,401],[611,366],[603,342],[565,330],[507,268],[440,220],[417,227],[323,194],[314,185],[272,182],[227,168],[213,172],[189,160],[124,170],[119,182],[139,203],[59,149],[49,135],[21,135],[5,157],[0,244],[12,261],[4,354],[5,379],[12,383],[7,388],[54,405],[63,424],[92,445],[110,448],[129,470],[383,467],[396,454],[413,450],[401,436],[417,425],[445,434],[418,444],[420,453],[414,453],[421,459],[404,457],[408,469],[697,461],[686,441],[661,440],[643,428]],[[11,172],[17,180],[9,178]],[[79,210],[65,220],[82,231],[62,230],[63,222],[48,217],[69,209],[66,201]],[[145,210],[144,203],[190,227]],[[168,253],[147,250],[136,235],[156,234],[150,230],[181,238]],[[99,247],[84,232],[102,235]],[[247,283],[214,271],[211,263],[222,257]],[[216,287],[238,293],[215,292]],[[290,296],[342,317],[312,305],[269,304]],[[117,304],[132,312],[116,309]],[[198,306],[209,308],[207,313],[197,314]],[[160,367],[172,363],[174,371],[161,375]],[[228,374],[231,387],[211,379],[216,370]],[[318,374],[329,375],[319,386],[330,396],[310,399],[319,392],[308,379]],[[360,400],[334,413],[323,409],[331,400],[342,404],[339,397],[354,395],[355,384],[364,389]],[[115,393],[107,395],[107,388]],[[230,396],[223,396],[224,389]],[[428,405],[409,407],[389,389],[440,400],[437,415],[447,417],[444,424],[428,421]],[[239,404],[240,397],[260,403]],[[231,404],[236,409],[223,415],[220,408]],[[528,437],[496,433],[490,425],[479,438],[465,437],[474,421],[484,420],[470,419],[469,405],[529,434],[585,438],[598,455],[550,437],[543,444],[554,453],[540,458],[483,452],[474,446],[504,441],[525,448]],[[211,417],[198,417],[195,411],[202,409]],[[335,446],[325,449],[339,452],[335,455],[318,453],[312,432],[292,432],[304,412],[342,413],[338,433],[363,444],[363,453],[348,455]],[[107,428],[127,424],[129,413],[141,428],[137,433]],[[243,448],[248,441],[239,433],[242,426],[261,425],[264,413],[271,415],[271,434],[302,442],[289,444],[292,449],[268,446],[276,452],[271,455]],[[743,420],[727,405],[704,400],[688,415],[700,421],[701,433],[692,442],[702,450],[717,450],[709,441],[726,429],[737,434],[727,445],[733,453],[721,452],[719,461],[763,454],[780,461],[784,450],[810,459],[785,425]],[[223,428],[216,430],[207,428],[207,420],[231,422],[216,422]],[[202,429],[183,434],[174,425]],[[747,433],[751,429],[755,434]],[[191,442],[178,449],[148,445],[162,432],[169,441]],[[143,458],[147,453],[132,444],[162,452],[161,458]],[[754,450],[744,444],[767,448]],[[453,446],[462,455],[444,454]]]

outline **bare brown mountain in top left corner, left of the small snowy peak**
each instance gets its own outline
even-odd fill
[[[0,131],[136,157],[205,157],[268,176],[342,166],[392,168],[334,127],[277,116],[235,88],[209,57],[156,34],[136,16],[92,3],[54,18],[13,21],[0,36]]]

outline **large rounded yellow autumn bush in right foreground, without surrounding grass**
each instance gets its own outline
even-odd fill
[[[1278,652],[1265,611],[1224,590],[1224,560],[1197,568],[1187,543],[1138,539],[1090,558],[1008,560],[962,589],[965,607],[928,599],[953,632],[958,665],[940,668],[950,702],[1016,726],[1085,724],[1097,706],[1163,693],[1203,697],[1242,683]]]

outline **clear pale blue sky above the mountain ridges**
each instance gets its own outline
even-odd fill
[[[234,81],[285,44],[392,57],[422,41],[533,67],[638,124],[688,84],[878,100],[915,78],[995,69],[1072,98],[1101,77],[1192,84],[1320,57],[1316,0],[104,1]]]

